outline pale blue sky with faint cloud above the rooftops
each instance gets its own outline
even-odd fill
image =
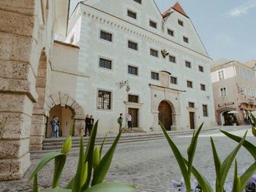
[[[71,11],[77,2],[80,0],[71,0]],[[176,0],[155,2],[160,11],[165,11]],[[179,0],[179,3],[213,60],[256,60],[256,0]]]

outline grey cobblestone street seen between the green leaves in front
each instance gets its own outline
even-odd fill
[[[243,135],[248,127],[229,128],[235,135]],[[195,167],[213,182],[215,180],[215,169],[212,160],[212,150],[210,147],[209,136],[215,141],[216,148],[223,160],[227,153],[235,147],[236,142],[224,137],[218,130],[202,133],[199,138],[199,144],[195,155]],[[178,135],[173,140],[179,146],[183,154],[189,145],[190,135]],[[256,145],[256,139],[252,137],[251,131],[248,132],[248,140]],[[109,146],[106,146],[107,149]],[[28,175],[34,166],[40,161],[41,155],[31,155],[32,165],[25,178],[21,181],[6,181],[0,183],[2,191],[31,191],[31,184],[26,183]],[[238,169],[245,170],[254,160],[248,152],[241,148],[238,156]],[[41,187],[49,187],[51,184],[51,173],[53,164],[49,164],[41,174],[39,182]],[[67,164],[61,179],[61,186],[67,184],[67,181],[74,175],[77,168],[77,155],[70,155],[67,158]],[[233,177],[233,170],[229,178]],[[110,172],[107,175],[107,181],[124,182],[134,184],[139,187],[138,191],[174,191],[171,187],[171,181],[179,181],[181,174],[178,164],[174,158],[169,144],[165,139],[151,142],[136,142],[121,144],[117,148],[111,164]]]

